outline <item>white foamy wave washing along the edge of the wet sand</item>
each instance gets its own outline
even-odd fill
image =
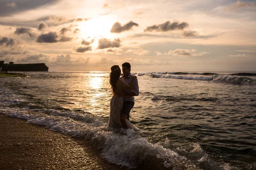
[[[140,137],[134,130],[122,129],[119,131],[108,128],[107,122],[102,121],[99,117],[89,119],[90,116],[84,116],[82,119],[86,119],[84,122],[70,119],[74,117],[75,119],[81,118],[81,115],[76,116],[74,113],[48,110],[50,115],[39,115],[29,113],[27,110],[3,110],[0,111],[0,114],[26,119],[29,123],[35,125],[44,125],[54,131],[90,140],[102,150],[102,157],[119,166],[136,168],[141,164],[151,164],[151,166],[162,164],[163,167],[176,167],[178,170],[182,163],[182,167],[195,167],[184,156],[180,156],[160,144],[148,142],[147,139]],[[154,159],[154,161],[151,159]]]

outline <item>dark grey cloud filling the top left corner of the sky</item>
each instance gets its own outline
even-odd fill
[[[28,11],[39,8],[41,6],[49,6],[60,0],[1,0],[0,16],[10,16],[19,12]]]

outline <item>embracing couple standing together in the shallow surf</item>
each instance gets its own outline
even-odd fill
[[[136,76],[131,75],[131,65],[128,62],[122,64],[123,76],[121,76],[121,68],[118,65],[111,67],[110,85],[113,96],[110,101],[110,114],[108,126],[113,128],[131,128],[139,130],[139,128],[129,122],[130,111],[134,106],[134,96],[139,95],[139,85]]]

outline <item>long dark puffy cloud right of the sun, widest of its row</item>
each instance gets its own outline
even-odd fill
[[[166,32],[166,31],[184,29],[188,26],[189,24],[185,22],[180,23],[179,21],[175,20],[173,23],[171,23],[170,21],[166,21],[163,24],[147,26],[147,28],[144,29],[144,32],[147,32],[147,31]]]

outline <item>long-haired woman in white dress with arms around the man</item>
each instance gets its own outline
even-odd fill
[[[122,128],[122,123],[120,121],[120,115],[124,103],[122,89],[123,88],[129,88],[133,89],[134,81],[137,78],[136,76],[133,76],[131,85],[128,85],[126,82],[124,82],[122,79],[120,79],[121,75],[121,69],[118,65],[113,65],[111,67],[111,73],[110,76],[110,85],[111,90],[113,92],[113,96],[110,101],[110,114],[109,114],[109,121],[108,126],[113,128]],[[135,127],[126,119],[126,125],[128,128],[134,129],[134,130],[140,130],[139,128]]]

